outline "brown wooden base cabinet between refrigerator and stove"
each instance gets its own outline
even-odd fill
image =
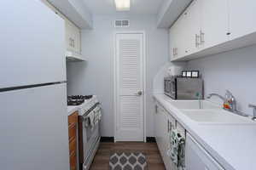
[[[69,163],[70,170],[77,170],[77,130],[79,113],[76,111],[68,116],[68,137],[69,137]]]

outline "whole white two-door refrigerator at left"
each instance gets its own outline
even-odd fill
[[[0,6],[0,165],[68,170],[65,23],[40,0]]]

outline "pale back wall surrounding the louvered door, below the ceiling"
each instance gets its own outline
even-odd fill
[[[131,26],[115,29],[114,20],[129,19]],[[113,35],[114,31],[146,32],[147,136],[154,136],[153,78],[168,60],[168,31],[156,29],[154,15],[97,15],[94,29],[82,31],[82,54],[87,63],[67,64],[68,94],[96,94],[103,107],[102,136],[114,135]]]

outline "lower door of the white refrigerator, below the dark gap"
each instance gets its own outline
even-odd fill
[[[66,84],[0,93],[1,169],[69,170]]]

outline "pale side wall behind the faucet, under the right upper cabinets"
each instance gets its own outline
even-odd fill
[[[256,105],[256,46],[240,48],[211,57],[189,61],[190,69],[199,69],[205,80],[206,94],[224,95],[229,89],[238,108],[253,115],[248,104]],[[214,99],[215,100],[215,99]]]

